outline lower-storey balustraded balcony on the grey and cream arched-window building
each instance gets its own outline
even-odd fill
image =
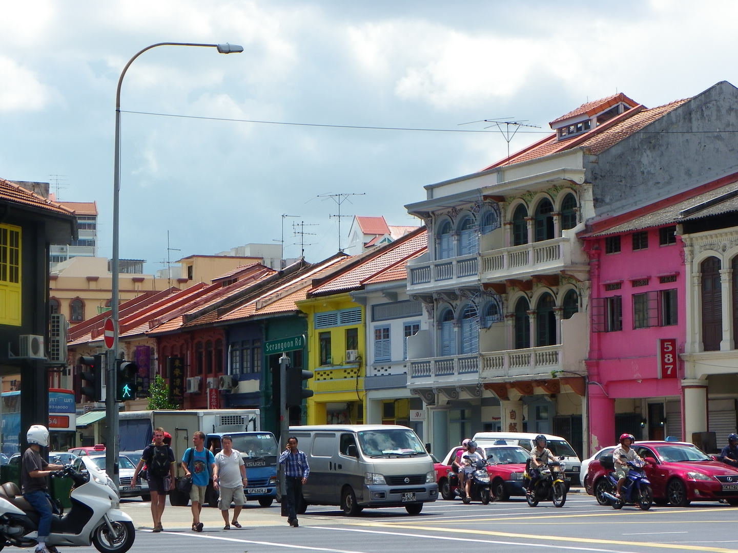
[[[563,347],[531,347],[451,357],[414,359],[410,363],[411,388],[469,386],[493,380],[518,380],[563,369]]]

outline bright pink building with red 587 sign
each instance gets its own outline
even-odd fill
[[[590,257],[590,451],[624,432],[692,439],[683,432],[689,283],[677,224],[724,186],[704,184],[599,220],[580,235]]]

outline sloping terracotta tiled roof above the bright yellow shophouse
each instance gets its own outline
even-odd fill
[[[421,227],[418,232],[407,234],[407,237],[402,237],[393,243],[382,246],[376,250],[378,252],[376,256],[359,262],[358,265],[348,269],[348,271],[318,285],[311,291],[311,296],[361,288],[366,279],[373,277],[379,271],[383,271],[400,260],[413,256],[417,251],[426,248],[427,244],[426,229]]]

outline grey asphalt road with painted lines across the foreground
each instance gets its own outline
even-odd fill
[[[161,534],[151,533],[148,504],[131,501],[122,507],[136,522],[134,553],[162,553],[162,548],[218,553],[446,553],[459,548],[505,553],[738,552],[738,507],[718,503],[616,511],[599,506],[589,495],[570,493],[561,509],[550,503],[531,508],[522,498],[487,506],[441,500],[426,504],[417,516],[401,508],[365,509],[356,518],[331,507],[309,507],[299,528],[286,524],[277,504],[264,509],[249,503],[240,517],[243,528],[228,531],[220,512],[205,507],[201,533],[190,529],[190,509],[168,505]]]

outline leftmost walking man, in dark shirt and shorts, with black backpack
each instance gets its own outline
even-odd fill
[[[174,489],[174,452],[164,443],[164,428],[154,429],[154,443],[147,445],[136,465],[131,487],[136,485],[139,472],[146,464],[146,481],[151,493],[151,518],[154,532],[162,531],[162,513],[167,501],[167,492]]]

